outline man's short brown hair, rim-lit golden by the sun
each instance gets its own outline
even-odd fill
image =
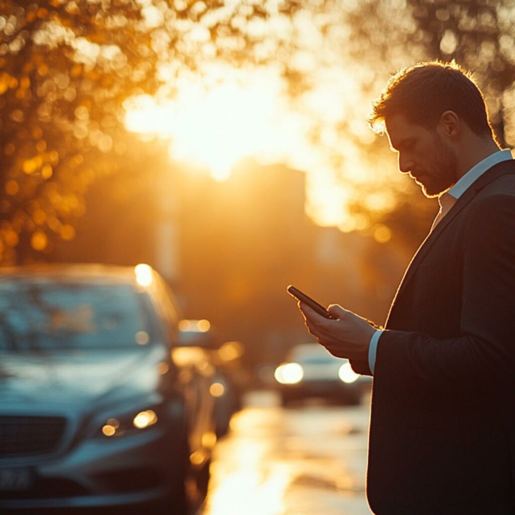
[[[422,62],[390,76],[367,121],[375,133],[384,134],[385,119],[399,113],[434,129],[445,111],[454,111],[478,136],[493,136],[483,94],[455,61]]]

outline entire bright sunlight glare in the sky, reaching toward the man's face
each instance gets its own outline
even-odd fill
[[[345,232],[368,226],[355,220],[352,202],[392,208],[388,193],[373,196],[370,207],[358,188],[373,183],[372,191],[380,191],[382,184],[402,182],[400,176],[385,174],[341,129],[346,119],[354,138],[367,144],[375,137],[365,123],[370,99],[359,91],[359,74],[324,68],[309,91],[290,97],[274,64],[234,68],[211,60],[195,73],[170,63],[160,73],[173,88],[127,99],[125,125],[169,141],[170,159],[192,173],[209,170],[214,180],[226,181],[245,158],[304,171],[307,214]]]

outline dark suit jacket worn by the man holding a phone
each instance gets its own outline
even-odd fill
[[[487,170],[427,236],[385,328],[369,434],[374,513],[515,513],[515,161]]]

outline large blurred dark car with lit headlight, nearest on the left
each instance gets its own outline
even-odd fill
[[[201,499],[215,369],[179,318],[147,265],[0,270],[0,513]]]

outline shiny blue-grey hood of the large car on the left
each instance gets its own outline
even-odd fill
[[[157,388],[160,346],[0,355],[0,403],[24,408],[83,406]]]

